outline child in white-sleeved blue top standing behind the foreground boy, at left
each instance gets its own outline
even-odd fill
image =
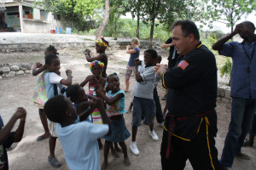
[[[67,79],[60,77],[61,63],[60,59],[55,54],[49,54],[45,57],[45,65],[48,73],[44,75],[47,98],[50,99],[55,95],[60,94],[62,85],[69,86],[72,84],[72,71],[67,70]],[[49,157],[48,162],[52,167],[60,167],[61,163],[55,158],[55,144],[57,134],[55,133],[55,123],[49,121]]]

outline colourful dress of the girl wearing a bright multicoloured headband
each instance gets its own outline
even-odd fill
[[[89,94],[92,96],[96,96],[96,83],[89,82]],[[91,113],[91,116],[92,116],[93,123],[102,124],[102,116],[98,109],[94,110]]]

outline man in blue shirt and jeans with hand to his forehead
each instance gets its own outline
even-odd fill
[[[212,49],[218,54],[231,57],[233,67],[231,72],[232,109],[229,132],[227,133],[220,163],[229,169],[235,156],[249,159],[241,153],[241,146],[252,127],[253,115],[256,111],[256,34],[255,26],[250,21],[236,25],[235,31],[214,43]],[[236,34],[242,42],[227,42]]]

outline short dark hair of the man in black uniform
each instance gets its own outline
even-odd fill
[[[200,35],[195,23],[191,20],[177,20],[172,24],[172,30],[175,26],[181,26],[183,31],[183,37],[189,36],[189,34],[194,34],[196,40],[200,40]]]

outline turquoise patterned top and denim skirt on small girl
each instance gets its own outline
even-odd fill
[[[117,93],[112,94],[112,91],[108,92],[108,98],[112,99],[117,94],[124,94],[124,97],[116,101],[113,105],[108,105],[108,116],[118,116],[121,115],[119,119],[110,119],[110,126],[112,133],[110,136],[105,136],[103,139],[110,142],[123,142],[131,136],[131,133],[127,130],[125,126],[125,118],[123,114],[125,111],[125,92],[119,90]]]

